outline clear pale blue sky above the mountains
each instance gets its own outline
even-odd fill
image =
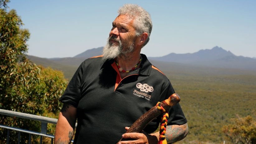
[[[255,0],[11,0],[8,6],[31,33],[29,55],[63,58],[104,46],[125,3],[138,4],[151,15],[153,30],[141,52],[147,56],[219,46],[256,57]]]

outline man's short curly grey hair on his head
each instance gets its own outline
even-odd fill
[[[136,30],[136,36],[139,36],[144,32],[148,33],[150,36],[153,25],[149,13],[144,8],[136,4],[125,4],[119,8],[118,15],[128,15],[134,18],[133,23]],[[149,36],[143,46],[149,42]]]

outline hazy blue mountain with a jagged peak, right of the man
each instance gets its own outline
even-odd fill
[[[256,59],[236,56],[221,47],[199,50],[195,53],[170,53],[163,57],[149,57],[150,60],[161,62],[186,63],[207,67],[237,68],[256,70]]]

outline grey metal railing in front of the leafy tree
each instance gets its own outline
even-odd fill
[[[38,116],[38,115],[34,115],[34,114],[15,112],[15,111],[5,110],[5,109],[0,109],[0,114],[41,122],[41,132],[35,132],[35,131],[30,131],[30,130],[21,129],[21,128],[15,128],[15,127],[10,127],[10,126],[5,126],[5,125],[0,124],[0,128],[7,129],[7,144],[9,144],[9,141],[10,141],[10,130],[18,132],[18,144],[20,143],[21,132],[25,132],[25,133],[29,134],[29,140],[28,140],[29,144],[31,144],[31,135],[39,135],[40,136],[40,144],[42,144],[42,137],[49,137],[49,138],[51,138],[51,144],[53,144],[54,135],[47,134],[47,124],[48,123],[56,124],[58,119],[48,118],[48,117],[44,117],[44,116]],[[71,142],[73,143],[73,140]]]

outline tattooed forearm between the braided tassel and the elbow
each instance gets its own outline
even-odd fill
[[[180,125],[179,127],[168,126],[165,133],[165,138],[168,143],[174,143],[182,140],[187,136],[187,124]]]

